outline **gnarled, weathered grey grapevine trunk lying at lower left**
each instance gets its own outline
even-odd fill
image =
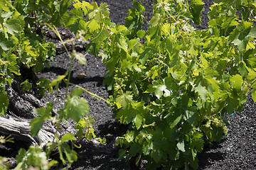
[[[18,142],[21,147],[39,145],[43,147],[48,141],[54,140],[55,128],[46,121],[43,128],[36,137],[31,137],[29,122],[36,118],[36,108],[45,107],[33,94],[21,93],[18,81],[14,81],[12,86],[7,87],[9,96],[9,108],[6,116],[0,116],[0,135],[14,137],[14,145]]]

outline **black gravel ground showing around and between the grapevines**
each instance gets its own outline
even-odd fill
[[[97,0],[102,2],[103,0]],[[146,9],[151,7],[150,1],[145,0]],[[104,0],[110,8],[110,18],[115,23],[124,23],[127,10],[132,6],[132,0]],[[206,1],[206,6],[210,6],[211,1]],[[207,10],[203,12],[202,26],[207,27]],[[147,15],[147,13],[145,13]],[[150,17],[150,13],[148,13]],[[57,38],[50,33],[46,33],[46,39],[58,42]],[[63,38],[70,38],[70,33],[64,31]],[[85,49],[80,49],[85,54]],[[73,74],[71,82],[78,84],[94,94],[107,98],[109,95],[106,87],[102,84],[105,67],[100,57],[86,55],[87,66],[73,64]],[[66,53],[57,55],[50,68],[45,69],[38,77],[46,77],[50,80],[58,75],[65,74],[68,69],[70,59]],[[84,79],[78,79],[78,74],[85,74]],[[71,87],[72,89],[72,87]],[[55,108],[63,106],[65,86],[60,86],[60,92],[47,94],[43,101],[52,101]],[[90,94],[83,94],[90,104],[90,115],[95,119],[95,133],[98,137],[106,137],[107,145],[93,145],[92,142],[83,141],[82,149],[78,149],[78,162],[75,162],[70,169],[131,169],[125,162],[118,160],[118,148],[114,146],[114,139],[118,135],[126,132],[125,127],[114,122],[110,106],[104,101],[97,101]],[[223,137],[221,142],[215,143],[212,148],[206,148],[198,154],[198,169],[256,169],[256,106],[249,96],[242,113],[230,115],[231,125],[228,127],[228,136]],[[72,132],[72,127],[66,127],[68,132]]]

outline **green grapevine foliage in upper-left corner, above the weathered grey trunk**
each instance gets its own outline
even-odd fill
[[[33,67],[40,72],[48,66],[48,58],[55,55],[55,46],[44,42],[36,34],[36,26],[40,23],[37,16],[30,16],[35,11],[28,7],[28,1],[3,0],[0,2],[0,113],[5,114],[9,100],[5,92],[6,83],[11,86],[14,76],[20,76],[22,67]],[[27,6],[27,7],[25,7]],[[18,10],[22,9],[22,10]],[[28,22],[29,21],[29,22]],[[28,80],[23,82],[24,90],[31,88]]]

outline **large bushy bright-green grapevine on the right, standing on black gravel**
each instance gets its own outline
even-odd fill
[[[215,1],[209,29],[195,30],[202,5],[156,0],[144,31],[137,1],[124,26],[110,22],[106,4],[75,1],[87,21],[70,28],[85,30],[88,52],[104,50],[114,117],[129,125],[116,143],[120,157],[146,159],[148,169],[197,169],[196,154],[227,135],[225,113],[241,111],[251,89],[256,99],[255,1]]]

